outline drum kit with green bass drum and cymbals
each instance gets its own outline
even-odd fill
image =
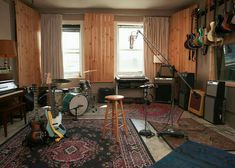
[[[90,73],[95,70],[85,71]],[[53,79],[54,84],[69,83],[67,79]],[[92,86],[89,80],[80,80],[78,87],[53,89],[55,108],[58,111],[70,112],[77,117],[86,111],[97,111],[95,100],[92,95]]]

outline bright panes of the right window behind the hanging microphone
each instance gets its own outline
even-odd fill
[[[117,75],[144,75],[144,41],[135,38],[130,49],[130,35],[137,30],[143,32],[143,25],[117,25]]]

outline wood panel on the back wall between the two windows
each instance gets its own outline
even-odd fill
[[[114,16],[86,13],[84,17],[84,57],[86,78],[92,82],[114,79]]]

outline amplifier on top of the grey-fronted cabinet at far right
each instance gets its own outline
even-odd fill
[[[224,99],[225,82],[208,81],[206,86],[206,95]]]

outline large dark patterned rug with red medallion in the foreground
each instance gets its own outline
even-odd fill
[[[0,146],[0,167],[147,167],[153,158],[130,120],[128,136],[120,131],[120,145],[107,133],[101,137],[103,120],[65,120],[68,137],[59,142],[27,147],[22,145],[30,127],[26,126]]]

